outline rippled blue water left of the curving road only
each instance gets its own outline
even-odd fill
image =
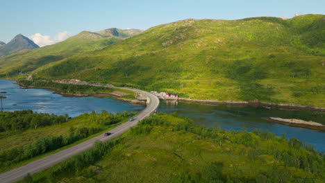
[[[53,94],[47,89],[20,89],[19,85],[13,84],[14,81],[0,80],[0,94],[7,98],[3,100],[3,110],[33,110],[34,112],[53,113],[57,115],[69,114],[78,116],[85,112],[124,112],[141,111],[144,105],[124,103],[113,98],[90,97],[64,97]]]

